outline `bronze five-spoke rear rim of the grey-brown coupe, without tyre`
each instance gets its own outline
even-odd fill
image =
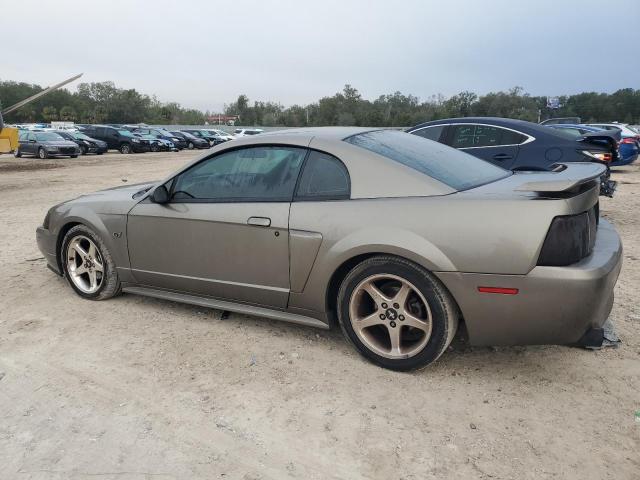
[[[420,291],[396,275],[376,274],[354,288],[349,300],[354,332],[371,351],[409,358],[431,338],[431,310]]]

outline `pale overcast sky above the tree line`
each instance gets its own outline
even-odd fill
[[[0,11],[2,80],[84,72],[213,111],[241,93],[308,103],[345,83],[370,99],[640,88],[639,0],[0,0]]]

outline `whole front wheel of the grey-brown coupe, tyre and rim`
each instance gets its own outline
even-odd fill
[[[71,228],[64,236],[59,255],[64,276],[81,297],[106,300],[120,292],[111,253],[91,228],[84,225]]]

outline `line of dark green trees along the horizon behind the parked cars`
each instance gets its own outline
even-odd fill
[[[0,81],[0,102],[5,107],[42,90],[39,85]],[[285,107],[278,102],[254,101],[239,95],[226,104],[225,115],[238,115],[245,126],[354,125],[404,127],[448,117],[495,116],[537,122],[551,117],[580,117],[583,122],[640,123],[640,90],[614,93],[584,92],[559,97],[559,108],[547,107],[547,97],[532,96],[521,87],[477,95],[470,91],[446,98],[434,95],[421,101],[401,92],[362,98],[351,85],[308,105]],[[148,123],[204,125],[210,112],[164,103],[135,89],[113,82],[81,83],[76,92],[61,89],[7,115],[6,122]]]

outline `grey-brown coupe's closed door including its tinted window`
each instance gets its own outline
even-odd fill
[[[135,279],[237,302],[284,308],[289,208],[306,149],[252,146],[209,157],[167,183],[169,203],[129,213]]]

